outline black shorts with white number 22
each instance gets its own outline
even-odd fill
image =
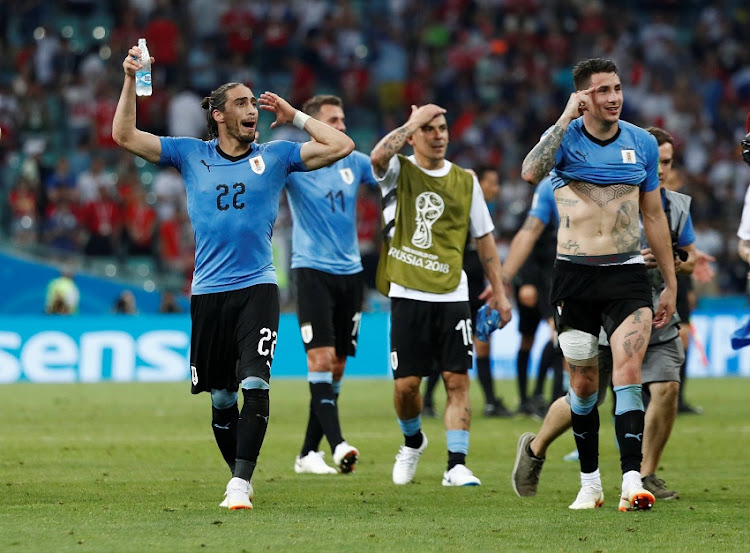
[[[279,289],[257,284],[190,299],[191,392],[236,391],[253,376],[268,382],[279,330]]]

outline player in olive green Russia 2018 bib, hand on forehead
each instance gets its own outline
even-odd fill
[[[386,243],[379,290],[391,298],[391,369],[394,405],[404,445],[393,482],[407,484],[427,447],[419,384],[437,364],[447,393],[444,422],[448,466],[444,486],[477,486],[466,467],[469,451],[469,375],[472,320],[463,250],[469,232],[492,285],[488,304],[501,324],[510,320],[502,287],[494,225],[476,177],[445,159],[448,123],[434,104],[412,106],[409,120],[388,133],[370,154],[383,193]],[[405,144],[410,157],[397,155]]]

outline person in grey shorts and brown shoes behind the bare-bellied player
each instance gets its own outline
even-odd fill
[[[671,135],[663,129],[649,127],[647,130],[654,135],[659,145],[659,181],[663,185],[672,167],[674,143]],[[543,183],[544,181],[541,184]],[[689,276],[695,268],[698,257],[690,217],[690,197],[663,187],[660,188],[660,193],[675,250],[675,270],[678,274]],[[654,284],[654,303],[656,304],[663,279],[656,269],[653,253],[645,242],[645,237],[642,236],[641,239],[643,246],[641,253]],[[680,366],[685,359],[685,351],[679,335],[679,324],[679,314],[675,314],[666,326],[654,329],[643,359],[643,384],[647,388],[650,401],[645,415],[641,473],[646,475],[643,478],[644,488],[658,499],[679,498],[678,492],[667,489],[664,480],[656,476],[656,468],[677,414]],[[612,350],[606,342],[606,336],[600,336],[598,398],[600,405],[604,401],[611,376]],[[560,398],[552,404],[537,435],[527,432],[518,441],[511,482],[519,497],[536,494],[547,448],[571,426],[570,408],[566,405],[566,401],[570,402],[570,396]]]

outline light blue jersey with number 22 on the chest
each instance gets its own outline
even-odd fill
[[[286,176],[305,171],[302,144],[253,144],[233,158],[218,140],[161,137],[159,165],[182,174],[195,236],[193,294],[276,284],[271,235]]]

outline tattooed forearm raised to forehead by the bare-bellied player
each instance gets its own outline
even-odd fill
[[[526,154],[521,165],[521,178],[531,184],[539,184],[555,166],[555,156],[560,149],[565,131],[573,119],[577,119],[591,104],[593,88],[573,92],[555,126]]]

